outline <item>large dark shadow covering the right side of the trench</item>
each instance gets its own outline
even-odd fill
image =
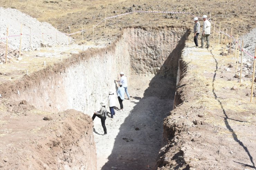
[[[162,146],[163,121],[173,109],[178,62],[187,37],[188,33],[185,33],[175,49],[170,51],[149,82],[144,97],[132,97],[139,101],[121,124],[108,162],[101,167],[102,170],[146,170],[155,165]],[[134,102],[133,99],[126,102]]]

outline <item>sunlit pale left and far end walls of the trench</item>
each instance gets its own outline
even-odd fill
[[[9,90],[0,87],[0,92],[6,90],[2,95],[16,101],[27,100],[40,110],[75,109],[90,115],[99,109],[102,100],[107,102],[109,90],[116,90],[114,80],[120,71],[128,79],[130,74],[157,74],[185,32],[185,27],[128,27],[111,46],[80,53],[6,84]],[[171,72],[172,67],[177,68],[177,62],[166,67]]]

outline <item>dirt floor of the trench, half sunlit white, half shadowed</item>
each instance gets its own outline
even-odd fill
[[[161,148],[163,119],[173,108],[175,79],[131,75],[124,111],[106,120],[108,134],[102,136],[100,120],[94,120],[98,169],[152,169]]]

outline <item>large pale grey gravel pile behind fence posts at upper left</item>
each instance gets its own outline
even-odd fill
[[[21,50],[30,49],[30,29],[31,29],[31,48],[41,46],[43,42],[42,33],[44,33],[44,43],[49,46],[66,45],[68,37],[58,32],[51,24],[47,22],[39,22],[35,18],[28,16],[16,9],[0,7],[0,38],[6,37],[7,25],[9,25],[9,36],[19,35],[22,24],[22,45]],[[56,42],[57,32],[57,42]],[[70,38],[71,40],[71,38]],[[5,39],[0,39],[6,44]],[[73,41],[73,40],[71,40]],[[11,37],[8,39],[8,46],[13,50],[19,49],[20,37]]]

